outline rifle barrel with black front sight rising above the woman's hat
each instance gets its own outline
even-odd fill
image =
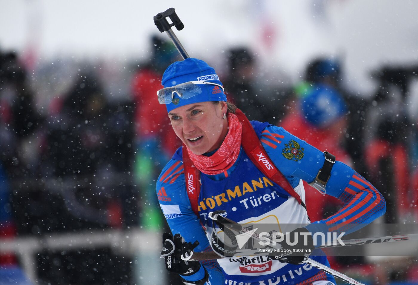
[[[170,18],[171,24],[168,23],[167,17]],[[176,10],[174,8],[169,8],[165,12],[158,13],[154,16],[154,24],[157,26],[158,30],[163,33],[166,32],[168,37],[173,42],[174,46],[176,46],[178,52],[183,57],[183,59],[188,59],[190,56],[187,54],[184,47],[181,45],[180,41],[174,34],[173,30],[171,30],[172,26],[175,26],[178,31],[183,30],[184,25],[181,22],[180,18],[178,18],[176,14]]]

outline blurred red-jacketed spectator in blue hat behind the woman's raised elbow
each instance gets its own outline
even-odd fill
[[[288,114],[278,125],[352,166],[349,154],[341,146],[347,127],[347,105],[331,83],[337,74],[336,69],[336,64],[329,60],[324,60],[321,64],[311,64],[307,82],[299,86],[296,94],[298,98],[289,104]],[[334,197],[322,195],[314,188],[309,189],[311,186],[306,182],[304,186],[306,201],[310,201],[306,206],[311,221],[323,219],[342,205]]]

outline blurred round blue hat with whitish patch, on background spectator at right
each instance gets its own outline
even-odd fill
[[[316,84],[311,92],[301,98],[301,109],[305,119],[317,127],[327,127],[347,112],[339,92],[325,84]]]

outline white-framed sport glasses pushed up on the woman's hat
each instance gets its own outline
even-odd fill
[[[202,89],[199,87],[201,84],[216,85],[222,89],[222,92],[225,92],[225,89],[221,84],[207,81],[189,81],[158,90],[158,102],[160,104],[170,104],[173,101],[174,94],[177,94],[181,99],[189,99],[199,95],[202,93]]]

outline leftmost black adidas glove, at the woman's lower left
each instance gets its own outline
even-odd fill
[[[171,233],[163,233],[163,249],[161,250],[161,258],[164,258],[166,263],[166,269],[170,272],[177,273],[184,276],[190,276],[198,272],[201,264],[197,260],[183,260],[193,255],[193,249],[199,244],[198,241],[194,242],[183,242],[183,238],[180,234],[175,234],[174,237]],[[205,277],[202,280],[188,282],[188,284],[204,284],[209,275],[205,269]],[[196,283],[197,282],[197,283]],[[199,283],[200,282],[200,283]]]

